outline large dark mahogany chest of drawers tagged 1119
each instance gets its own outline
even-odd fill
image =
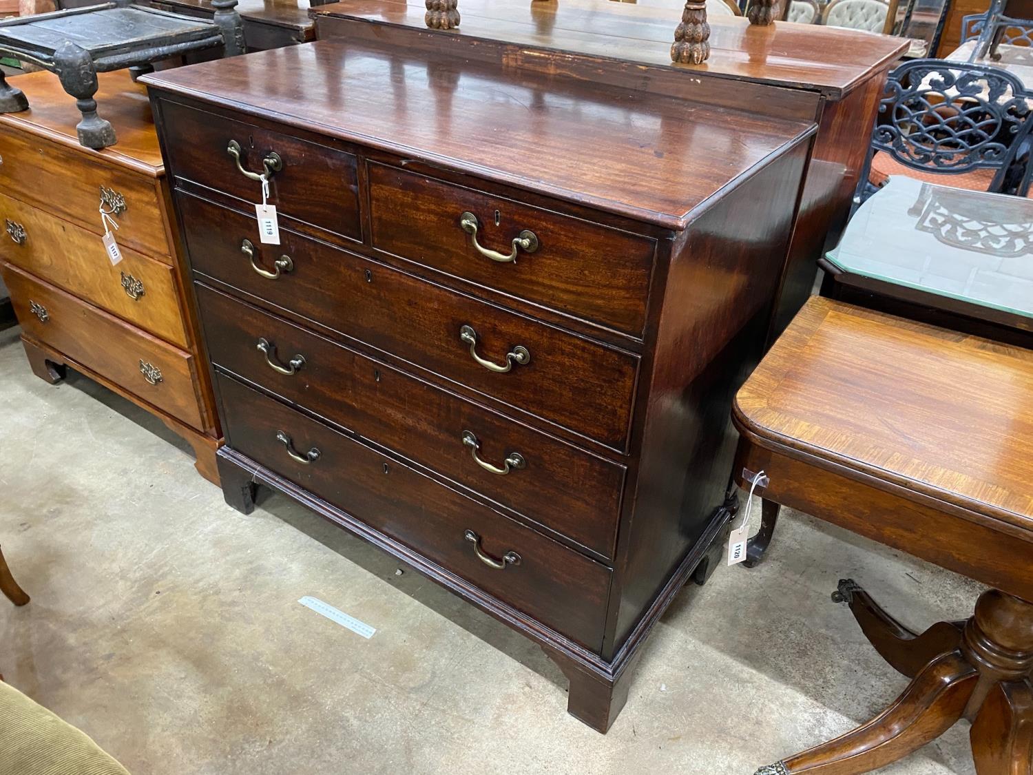
[[[269,486],[381,547],[538,642],[607,730],[723,537],[813,113],[339,40],[143,80],[227,502]]]

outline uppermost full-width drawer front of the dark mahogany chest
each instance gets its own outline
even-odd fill
[[[623,450],[637,357],[545,326],[286,229],[254,245],[259,268],[289,255],[276,280],[241,252],[252,219],[178,193],[193,268],[488,396]],[[505,373],[474,361],[510,363]],[[518,347],[525,364],[507,361]],[[521,357],[523,358],[523,357]]]

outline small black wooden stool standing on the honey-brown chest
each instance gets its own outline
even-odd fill
[[[237,0],[213,0],[212,22],[132,5],[129,0],[0,21],[0,56],[11,56],[57,73],[75,97],[83,119],[75,127],[87,148],[115,145],[115,129],[97,115],[97,73],[127,67],[149,71],[153,62],[223,47],[244,52]],[[20,113],[29,101],[0,72],[0,113]]]

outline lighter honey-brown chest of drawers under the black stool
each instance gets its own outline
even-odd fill
[[[128,71],[101,73],[97,98],[119,132],[104,151],[79,144],[73,100],[49,72],[20,75],[33,95],[0,116],[0,275],[33,371],[71,366],[150,410],[188,441],[218,484],[211,376],[200,353],[147,92]],[[121,260],[102,242],[107,225]]]

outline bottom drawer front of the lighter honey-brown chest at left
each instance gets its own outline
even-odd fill
[[[32,339],[109,379],[199,431],[195,363],[188,352],[155,339],[60,288],[3,265],[14,314]],[[148,381],[148,376],[155,384]]]

